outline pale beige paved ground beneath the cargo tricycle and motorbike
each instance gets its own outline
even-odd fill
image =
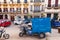
[[[4,39],[4,38],[0,38],[0,40],[60,40],[60,34],[58,33],[57,29],[52,29],[52,33],[51,34],[46,34],[47,37],[44,39],[39,39],[36,36],[24,36],[24,37],[19,37],[19,25],[11,25],[6,29],[6,33],[10,34],[10,38],[9,39]]]

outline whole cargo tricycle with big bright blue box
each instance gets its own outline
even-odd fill
[[[26,34],[30,36],[37,34],[39,38],[45,38],[45,33],[51,33],[50,18],[32,18],[31,22],[31,28],[24,26],[23,31],[19,33],[20,37]]]

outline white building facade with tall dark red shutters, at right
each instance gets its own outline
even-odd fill
[[[60,0],[45,0],[45,14],[51,19],[60,19]]]

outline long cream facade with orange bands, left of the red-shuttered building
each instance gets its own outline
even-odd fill
[[[0,0],[0,19],[41,17],[44,0]]]

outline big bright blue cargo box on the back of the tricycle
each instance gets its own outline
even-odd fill
[[[33,18],[32,33],[51,32],[50,18]]]

